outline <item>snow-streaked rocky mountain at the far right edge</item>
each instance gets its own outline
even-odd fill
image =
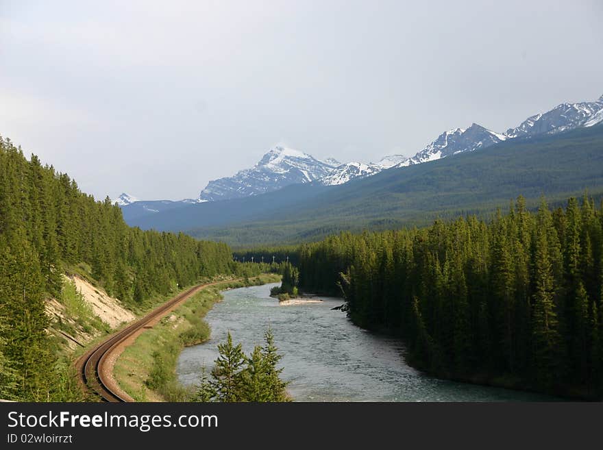
[[[591,119],[601,110],[603,110],[603,95],[597,101],[561,103],[549,112],[531,116],[518,127],[508,129],[506,135],[509,138],[531,137],[589,126],[587,123],[594,125]]]

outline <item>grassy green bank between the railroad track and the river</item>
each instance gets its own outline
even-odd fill
[[[221,290],[278,282],[279,275],[262,274],[248,282],[225,281],[197,292],[160,323],[140,334],[117,359],[114,377],[136,401],[186,401],[191,390],[177,382],[175,366],[182,349],[204,342],[210,327],[203,320]]]

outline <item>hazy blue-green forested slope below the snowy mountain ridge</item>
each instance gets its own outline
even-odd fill
[[[518,195],[533,210],[541,195],[554,205],[585,188],[600,198],[602,186],[603,125],[595,125],[391,168],[341,186],[293,185],[243,200],[187,205],[133,218],[130,225],[182,230],[232,247],[297,245],[346,230],[489,214]]]

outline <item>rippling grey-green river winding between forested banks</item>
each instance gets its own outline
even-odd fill
[[[216,359],[217,345],[230,331],[246,353],[261,345],[271,327],[284,355],[282,378],[295,401],[547,401],[552,397],[424,375],[404,362],[399,340],[356,327],[341,311],[341,299],[282,306],[269,297],[278,284],[223,292],[208,312],[212,338],[182,351],[177,375],[182,384],[197,384],[201,367]]]

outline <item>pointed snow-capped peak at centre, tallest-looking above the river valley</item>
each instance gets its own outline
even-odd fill
[[[314,182],[328,175],[335,167],[335,162],[319,161],[302,151],[276,146],[253,168],[209,182],[201,190],[199,199],[238,199],[278,190],[290,184]]]

